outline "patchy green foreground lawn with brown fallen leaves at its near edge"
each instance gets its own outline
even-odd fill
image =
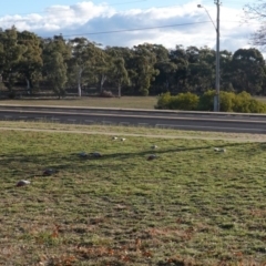
[[[0,141],[0,265],[266,263],[265,143],[16,130]]]

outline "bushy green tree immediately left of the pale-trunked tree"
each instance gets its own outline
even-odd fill
[[[64,63],[63,55],[57,51],[50,54],[45,61],[45,68],[50,69],[47,80],[51,85],[54,93],[59,96],[64,96],[65,94],[65,83],[68,81],[66,75],[66,64]]]

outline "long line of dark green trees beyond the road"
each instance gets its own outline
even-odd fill
[[[65,89],[96,88],[116,95],[171,92],[202,94],[215,88],[215,50],[143,43],[133,48],[105,47],[89,39],[41,38],[30,31],[0,29],[0,78],[10,92],[28,94],[43,88],[59,98]],[[221,51],[221,90],[266,94],[266,65],[255,48]]]

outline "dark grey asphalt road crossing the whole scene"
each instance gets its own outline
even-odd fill
[[[0,120],[266,134],[266,115],[232,113],[0,105]]]

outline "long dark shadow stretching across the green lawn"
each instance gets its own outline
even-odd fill
[[[243,143],[226,143],[225,145],[216,145],[216,147],[233,147],[233,146],[239,146],[243,145]],[[245,145],[252,145],[252,143],[246,143]],[[124,153],[110,153],[104,154],[101,157],[80,157],[79,152],[76,154],[70,153],[70,154],[62,154],[62,153],[53,153],[51,155],[49,154],[10,154],[10,155],[1,155],[0,156],[0,167],[4,168],[8,165],[12,165],[12,167],[16,165],[25,165],[23,168],[29,168],[27,173],[30,175],[39,176],[41,175],[42,171],[44,171],[48,167],[55,168],[59,171],[73,171],[73,170],[81,170],[81,171],[89,171],[94,168],[114,168],[117,170],[120,164],[112,164],[106,163],[110,160],[119,161],[121,162],[121,165],[123,164],[124,160],[134,160],[136,157],[142,157],[143,161],[147,160],[147,156],[151,154],[156,154],[158,158],[163,157],[164,155],[171,154],[171,153],[181,153],[181,152],[193,152],[193,151],[211,151],[211,149],[214,149],[213,145],[205,145],[205,146],[194,146],[194,147],[175,147],[175,149],[167,149],[167,150],[155,150],[155,151],[141,151],[141,152],[124,152]],[[263,145],[263,149],[265,149],[265,145]],[[101,162],[95,163],[95,162]],[[29,164],[29,166],[28,166]],[[30,165],[32,164],[32,168],[30,170]]]

